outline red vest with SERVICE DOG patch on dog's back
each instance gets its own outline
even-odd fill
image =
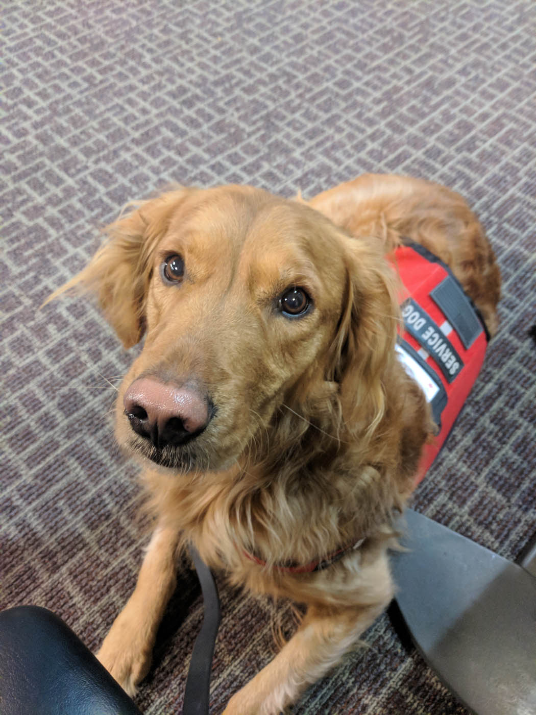
[[[477,379],[489,335],[480,313],[445,263],[418,244],[393,257],[405,292],[397,354],[417,380],[439,429],[425,445],[415,486],[445,443]]]

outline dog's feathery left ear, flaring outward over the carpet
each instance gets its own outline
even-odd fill
[[[66,290],[93,292],[124,347],[145,332],[145,303],[152,255],[174,212],[195,189],[177,189],[149,199],[104,229],[108,239],[89,265],[45,301]]]

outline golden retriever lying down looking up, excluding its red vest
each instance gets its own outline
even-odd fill
[[[143,465],[154,533],[98,657],[134,694],[177,555],[307,607],[226,715],[274,715],[337,664],[391,601],[387,548],[434,431],[395,355],[389,252],[450,265],[493,334],[500,276],[465,201],[422,179],[364,175],[309,202],[252,187],[179,188],[107,228],[63,289],[95,292],[124,347],[116,401]]]

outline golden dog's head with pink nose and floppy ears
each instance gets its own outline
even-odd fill
[[[70,285],[96,292],[125,347],[116,435],[177,471],[222,470],[279,415],[370,433],[384,414],[397,295],[374,240],[251,187],[177,189],[107,229]],[[336,405],[336,408],[335,408]]]

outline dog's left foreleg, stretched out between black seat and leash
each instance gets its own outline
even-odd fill
[[[179,533],[157,526],[147,547],[136,588],[104,638],[97,658],[129,695],[151,666],[164,609],[177,584]]]

